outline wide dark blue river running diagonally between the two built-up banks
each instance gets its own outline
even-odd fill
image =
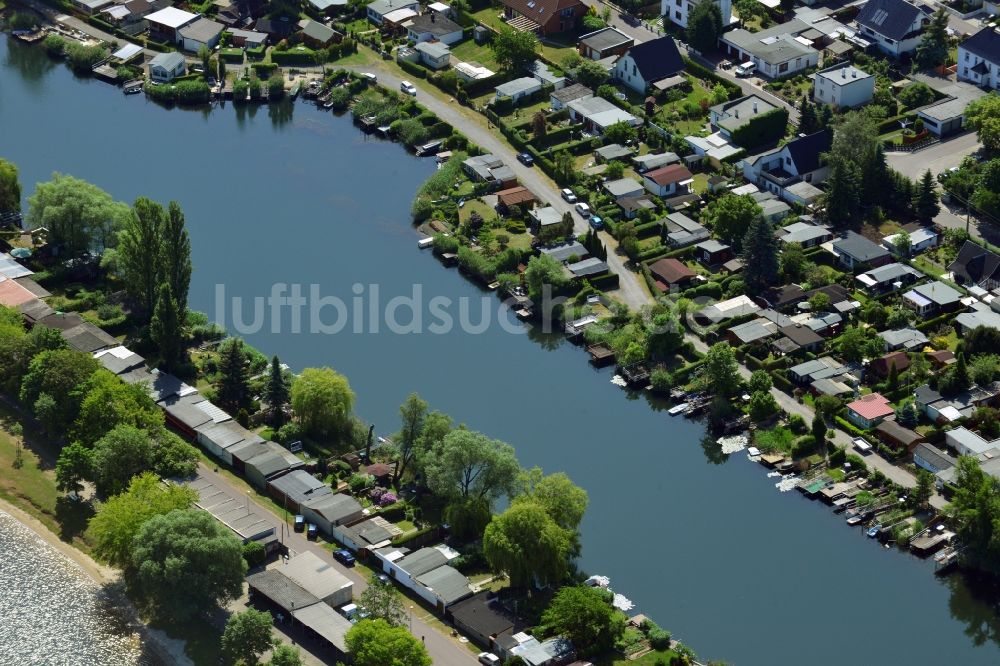
[[[697,424],[624,393],[561,337],[509,332],[522,329],[495,298],[416,248],[409,205],[432,160],[303,103],[163,109],[0,39],[0,156],[20,167],[25,197],[60,171],[125,201],[177,199],[194,247],[191,307],[215,313],[217,285],[249,299],[316,284],[345,302],[354,285],[378,285],[383,303],[419,285],[425,300],[469,299],[478,322],[486,297],[493,324],[477,332],[297,334],[285,312],[245,337],[296,370],[345,373],[379,432],[419,391],[511,442],[523,465],[565,471],[590,494],[582,567],[703,657],[1000,663],[997,615],[961,578],[935,578],[929,562],[777,492],[764,468],[703,444]]]

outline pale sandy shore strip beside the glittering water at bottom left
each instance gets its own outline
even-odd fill
[[[121,572],[118,569],[101,564],[90,555],[66,543],[49,530],[42,521],[30,513],[3,498],[0,498],[0,512],[6,513],[30,530],[45,542],[47,546],[58,552],[64,560],[76,565],[87,578],[98,586],[105,587],[119,582]],[[123,594],[116,594],[115,596],[118,602],[117,608],[121,612],[123,619],[128,622],[128,628],[133,638],[141,645],[147,647],[161,664],[193,666],[194,662],[185,653],[185,643],[183,641],[170,638],[162,630],[153,629],[141,619],[139,611],[136,610],[132,602]]]

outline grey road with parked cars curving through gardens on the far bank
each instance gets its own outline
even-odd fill
[[[390,88],[399,88],[402,77],[384,63],[376,63],[370,67],[349,67],[354,71],[373,71],[378,75],[379,83]],[[482,126],[483,117],[462,106],[458,102],[445,102],[439,97],[427,92],[430,85],[419,79],[413,81],[417,87],[417,101],[432,111],[438,118],[458,128],[465,136],[481,148],[488,150],[494,155],[503,159],[505,164],[510,165],[517,175],[518,181],[529,190],[535,193],[542,203],[548,204],[560,213],[570,212],[573,216],[573,231],[582,234],[587,230],[587,222],[573,210],[573,206],[566,203],[559,195],[559,188],[549,179],[545,173],[536,167],[526,167],[517,161],[517,153],[507,143],[499,130],[489,130]],[[643,305],[652,302],[652,297],[642,284],[642,276],[625,266],[625,259],[610,248],[615,245],[606,232],[602,232],[602,238],[609,248],[608,266],[618,274],[619,287],[611,292],[612,296],[637,310]]]

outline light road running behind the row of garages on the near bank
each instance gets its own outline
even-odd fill
[[[224,489],[226,492],[230,493],[233,497],[246,496],[248,501],[254,504],[254,510],[265,517],[274,516],[273,511],[269,506],[266,506],[257,501],[257,497],[254,494],[247,494],[246,486],[241,484],[236,484],[230,481],[227,477],[219,474],[218,472],[212,471],[212,468],[205,465],[204,463],[198,466],[198,474],[216,485],[219,488]],[[274,516],[275,525],[280,530],[280,525],[282,519],[280,516]],[[278,532],[279,534],[280,531]],[[361,593],[368,587],[365,579],[362,578],[353,569],[342,566],[339,562],[336,562],[330,555],[330,551],[323,548],[321,545],[314,541],[309,541],[301,533],[293,532],[291,529],[286,529],[284,533],[284,543],[288,546],[289,553],[294,555],[296,553],[301,553],[304,551],[312,551],[319,557],[323,558],[324,562],[330,562],[334,567],[337,568],[340,573],[347,576],[354,583],[354,596],[358,597]],[[422,607],[417,606],[413,612],[413,624],[411,632],[414,636],[420,636],[424,639],[424,644],[427,646],[427,651],[430,653],[431,658],[434,660],[435,666],[467,666],[476,663],[476,657],[469,651],[467,647],[460,644],[458,641],[453,640],[451,637],[446,636],[441,633],[438,629],[430,626],[423,621],[421,616],[426,614]]]

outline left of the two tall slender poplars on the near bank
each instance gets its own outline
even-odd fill
[[[125,291],[147,317],[156,307],[162,277],[160,247],[165,219],[163,206],[139,197],[118,234],[118,267]]]

